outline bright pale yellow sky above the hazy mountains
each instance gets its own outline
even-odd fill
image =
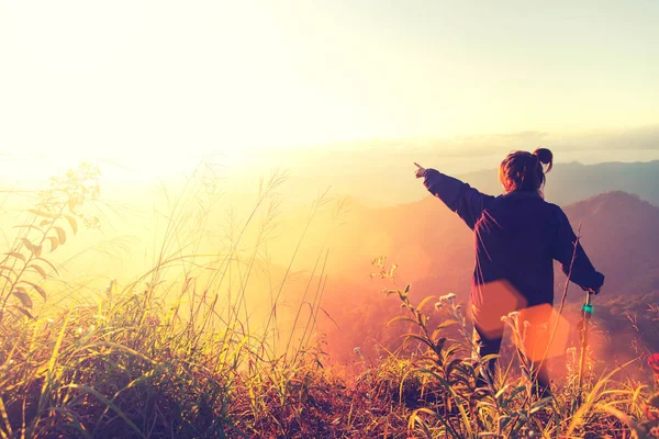
[[[209,155],[243,171],[279,151],[645,130],[658,20],[656,0],[0,0],[0,169],[161,177]]]

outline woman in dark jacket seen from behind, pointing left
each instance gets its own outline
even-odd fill
[[[476,233],[471,301],[481,357],[499,352],[503,315],[528,309],[550,313],[554,259],[572,282],[584,291],[599,293],[604,275],[593,268],[562,210],[544,200],[545,173],[552,167],[549,149],[509,154],[499,168],[499,180],[505,190],[500,196],[485,195],[435,169],[414,165],[416,178],[424,178],[426,189]],[[546,312],[535,314],[534,325],[549,318]],[[538,358],[532,361],[540,365],[537,390],[543,396],[550,395],[544,362]],[[493,373],[494,362],[489,365]],[[481,379],[480,385],[483,384]]]

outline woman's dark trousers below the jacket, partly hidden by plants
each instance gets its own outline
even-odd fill
[[[479,345],[478,353],[479,356],[485,357],[493,353],[499,353],[499,349],[501,349],[501,340],[503,338],[504,325],[501,325],[501,330],[489,330],[483,331],[478,324],[473,326],[473,339]],[[523,353],[520,352],[522,357]],[[534,392],[539,397],[551,396],[551,387],[549,383],[549,374],[547,372],[547,360],[543,361],[530,361],[530,359],[526,359],[527,364],[533,367],[533,385]],[[539,368],[539,369],[538,369]],[[494,379],[494,360],[490,360],[488,363],[488,370],[490,372],[490,376]],[[477,387],[487,387],[488,382],[483,378],[482,373],[477,381]]]

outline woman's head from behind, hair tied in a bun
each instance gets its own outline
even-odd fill
[[[514,151],[509,154],[499,167],[499,181],[505,192],[538,191],[545,184],[545,173],[551,170],[554,155],[547,148],[538,148],[533,154]],[[547,165],[547,170],[543,168]]]

